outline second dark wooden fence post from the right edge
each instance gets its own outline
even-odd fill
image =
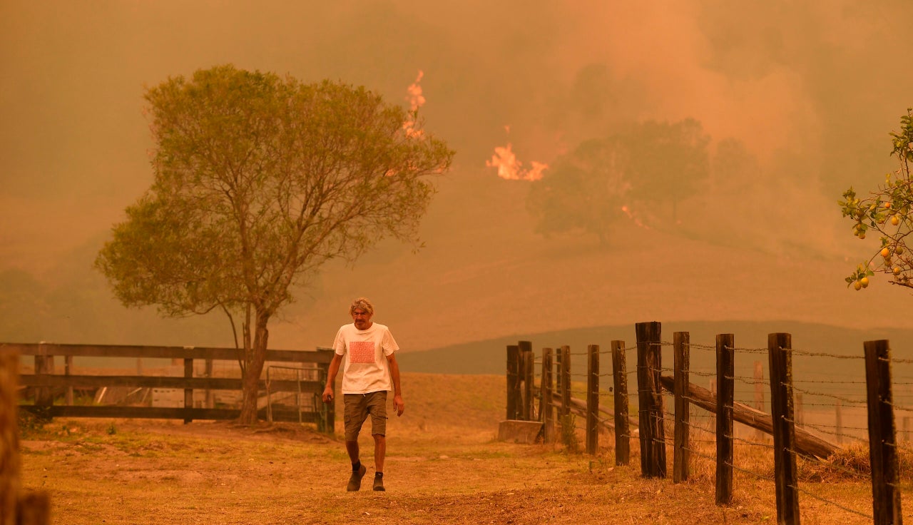
[[[792,335],[767,336],[770,358],[773,469],[777,497],[777,523],[799,523],[799,489],[792,416]]]

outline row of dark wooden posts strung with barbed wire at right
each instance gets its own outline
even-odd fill
[[[748,425],[759,434],[772,436],[774,486],[777,505],[777,522],[799,523],[799,495],[808,492],[799,488],[797,457],[826,460],[839,446],[816,436],[813,432],[796,424],[796,401],[801,405],[801,394],[794,394],[792,378],[792,336],[788,333],[771,333],[766,349],[750,349],[750,352],[766,352],[770,377],[771,413],[737,403],[734,399],[733,383],[735,343],[733,334],[719,334],[714,347],[716,372],[711,380],[716,393],[690,383],[690,349],[692,344],[688,332],[676,332],[673,342],[672,375],[662,375],[661,326],[658,322],[637,323],[636,328],[637,408],[636,423],[628,415],[628,389],[625,369],[624,341],[612,341],[613,410],[599,405],[601,398],[599,373],[599,346],[590,345],[586,352],[586,394],[577,399],[570,394],[570,349],[562,347],[557,361],[557,377],[563,378],[556,388],[552,386],[552,349],[542,350],[542,373],[540,386],[533,383],[535,358],[529,341],[520,341],[508,346],[507,401],[508,418],[538,420],[543,424],[540,437],[546,442],[555,440],[553,410],[562,414],[576,414],[585,421],[586,451],[597,453],[597,439],[600,428],[614,432],[614,456],[616,465],[627,465],[630,457],[629,426],[635,426],[640,444],[641,473],[646,478],[666,478],[666,446],[673,451],[673,481],[687,480],[690,454],[696,453],[689,444],[689,422],[692,406],[708,411],[715,419],[716,433],[716,502],[728,505],[733,490],[733,423]],[[699,346],[699,345],[698,345]],[[861,359],[865,362],[867,442],[871,462],[872,515],[862,514],[876,525],[900,524],[899,471],[897,462],[897,436],[893,395],[891,391],[891,355],[888,341],[866,341]],[[740,349],[749,350],[749,349]],[[805,352],[807,355],[826,355]],[[858,356],[829,356],[848,358]],[[906,362],[905,360],[900,360]],[[761,373],[756,364],[756,375]],[[608,374],[606,374],[608,375]],[[743,378],[740,378],[743,379]],[[755,381],[756,392],[761,394],[763,381]],[[614,392],[613,392],[614,391]],[[666,412],[664,394],[674,397],[674,414]],[[813,393],[809,393],[813,394]],[[756,397],[757,399],[757,397]],[[837,402],[837,436],[840,436],[840,398]],[[538,410],[537,410],[538,405]],[[605,417],[603,417],[605,415]],[[666,439],[666,416],[674,418],[674,437]],[[815,497],[814,494],[809,493]],[[817,498],[816,499],[822,499]],[[837,507],[839,504],[833,501]],[[842,509],[845,509],[841,507]],[[861,514],[852,509],[856,514]]]

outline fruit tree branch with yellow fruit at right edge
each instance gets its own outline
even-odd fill
[[[880,234],[881,247],[868,261],[861,263],[847,277],[847,287],[868,287],[869,276],[875,271],[886,273],[891,283],[913,288],[913,257],[908,240],[913,231],[913,179],[910,178],[910,161],[913,161],[913,108],[900,118],[900,131],[891,131],[891,155],[897,155],[899,168],[885,175],[885,185],[860,199],[852,187],[844,193],[839,205],[853,225],[853,235],[864,239],[871,228]]]

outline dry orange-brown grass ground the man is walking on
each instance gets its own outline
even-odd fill
[[[306,425],[58,419],[24,429],[23,483],[47,491],[54,523],[74,525],[776,522],[764,447],[737,446],[736,465],[752,474],[738,470],[733,503],[718,507],[704,457],[693,459],[691,479],[673,484],[640,477],[636,440],[628,467],[614,466],[608,436],[597,457],[498,442],[503,376],[406,373],[403,383],[406,412],[388,426],[386,492],[345,491],[341,422],[328,437]],[[373,445],[361,442],[370,487]],[[670,450],[670,473],[671,458]],[[803,523],[871,523],[853,512],[871,514],[870,484],[842,472],[802,465],[801,488],[814,496],[801,496]]]

